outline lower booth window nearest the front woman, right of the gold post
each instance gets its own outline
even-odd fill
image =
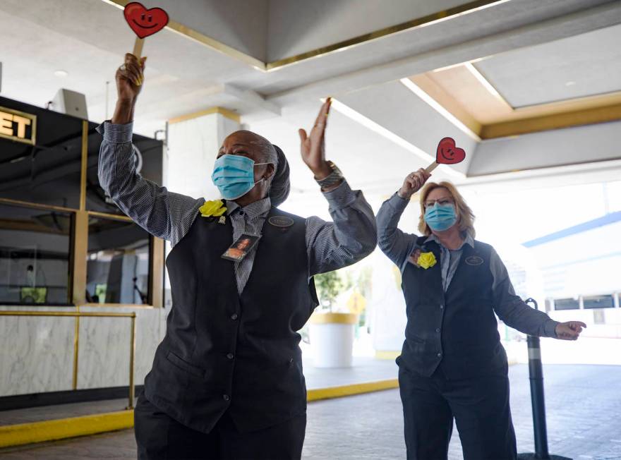
[[[89,217],[89,303],[149,304],[150,235],[133,222]]]

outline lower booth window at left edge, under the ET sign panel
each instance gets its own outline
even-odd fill
[[[72,217],[0,204],[0,304],[71,303]]]

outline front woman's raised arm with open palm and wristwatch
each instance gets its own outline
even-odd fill
[[[303,162],[320,183],[333,220],[325,222],[318,217],[306,220],[308,273],[311,277],[358,262],[372,253],[377,243],[375,216],[362,192],[351,190],[340,171],[332,169],[325,159],[325,128],[330,102],[328,98],[322,105],[310,134],[299,130]]]

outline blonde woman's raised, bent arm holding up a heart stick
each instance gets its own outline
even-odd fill
[[[382,203],[378,212],[378,246],[399,269],[414,248],[416,236],[399,230],[397,224],[411,196],[421,189],[429,177],[430,174],[422,168],[408,174],[401,188]]]

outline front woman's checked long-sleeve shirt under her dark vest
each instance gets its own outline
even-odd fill
[[[103,136],[98,168],[100,185],[136,224],[175,246],[190,230],[205,199],[170,192],[140,176],[133,160],[132,127],[133,123],[119,125],[107,121],[97,127]],[[358,262],[373,251],[377,241],[375,216],[361,191],[351,190],[343,181],[323,195],[333,222],[319,217],[306,219],[309,278]],[[232,201],[227,201],[226,206],[235,241],[241,234],[261,234],[271,202],[268,197],[245,207]],[[256,246],[246,258],[234,262],[239,293],[248,282],[255,253]]]

